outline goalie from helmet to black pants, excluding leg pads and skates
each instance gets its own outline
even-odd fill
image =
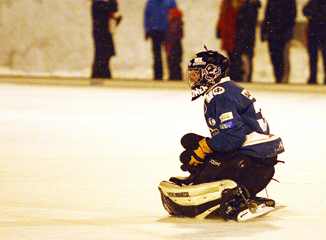
[[[186,81],[192,100],[205,96],[204,116],[211,137],[188,133],[181,138],[185,148],[181,169],[191,174],[170,181],[196,185],[229,179],[256,196],[272,179],[283,143],[270,134],[253,95],[228,74],[229,61],[219,52],[207,50],[191,58]]]

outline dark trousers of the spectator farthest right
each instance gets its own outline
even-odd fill
[[[318,49],[320,47],[324,72],[326,73],[326,40],[325,36],[320,36],[318,33],[308,34],[308,54],[309,54],[309,66],[310,66],[310,77],[309,82],[315,82],[317,77],[317,59],[318,59]],[[326,77],[324,79],[326,84]]]

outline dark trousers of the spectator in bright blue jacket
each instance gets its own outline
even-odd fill
[[[162,64],[162,44],[164,44],[163,31],[151,31],[154,54],[154,79],[163,79],[163,64]]]

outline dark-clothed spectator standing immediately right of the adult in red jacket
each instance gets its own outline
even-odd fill
[[[239,70],[241,79],[245,82],[251,82],[257,16],[260,7],[259,0],[245,0],[238,13],[235,55],[241,64]]]

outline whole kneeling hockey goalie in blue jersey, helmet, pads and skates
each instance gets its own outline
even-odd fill
[[[257,194],[274,175],[282,140],[269,133],[255,98],[228,72],[228,59],[217,51],[206,49],[189,61],[186,81],[192,101],[205,97],[211,136],[185,134],[180,161],[190,175],[159,184],[163,206],[173,216],[246,221],[275,208]]]

